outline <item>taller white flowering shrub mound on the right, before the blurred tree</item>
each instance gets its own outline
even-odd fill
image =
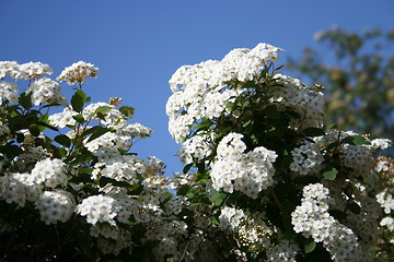
[[[322,86],[280,74],[278,51],[234,49],[170,80],[189,236],[215,247],[212,261],[372,261],[382,226],[393,228],[374,168],[391,141],[324,127]]]

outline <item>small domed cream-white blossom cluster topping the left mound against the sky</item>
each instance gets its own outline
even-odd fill
[[[88,78],[97,78],[99,68],[92,63],[79,61],[66,68],[57,78],[60,82],[66,82],[69,85],[83,84]]]

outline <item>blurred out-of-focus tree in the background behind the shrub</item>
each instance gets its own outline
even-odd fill
[[[394,130],[394,29],[347,32],[339,26],[315,35],[327,49],[305,48],[288,69],[325,87],[325,123],[392,139]],[[389,150],[391,156],[394,150]]]

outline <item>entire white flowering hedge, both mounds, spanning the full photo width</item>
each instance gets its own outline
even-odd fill
[[[152,132],[134,108],[91,103],[95,66],[53,80],[0,62],[0,260],[390,261],[394,162],[376,156],[391,141],[324,127],[322,87],[280,74],[278,51],[174,73],[172,177],[132,152]]]

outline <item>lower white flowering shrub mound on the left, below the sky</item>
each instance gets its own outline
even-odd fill
[[[160,159],[132,152],[152,130],[129,123],[134,108],[120,98],[90,103],[93,64],[51,73],[40,62],[0,62],[0,260],[174,255],[188,234],[178,219],[188,201],[169,193]],[[69,102],[58,81],[76,90]]]

